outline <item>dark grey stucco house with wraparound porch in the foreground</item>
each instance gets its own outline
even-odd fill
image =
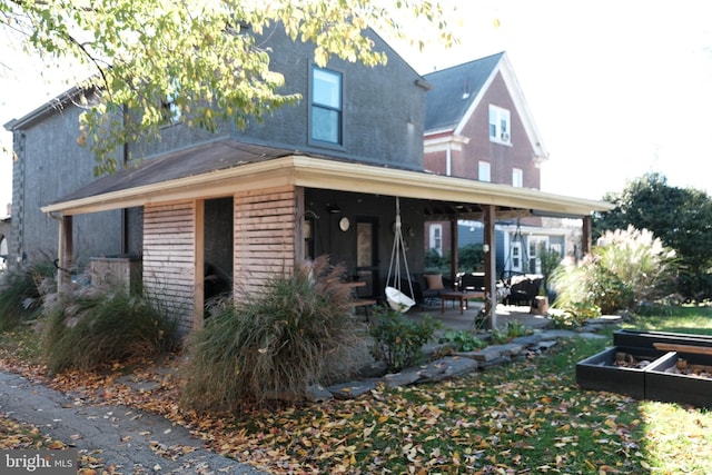
[[[57,253],[62,280],[80,261],[137,260],[144,288],[175,308],[185,333],[202,324],[212,277],[227,277],[239,297],[323,254],[365,283],[363,296],[382,297],[397,198],[413,273],[424,266],[429,215],[461,207],[487,216],[607,209],[426,172],[427,81],[376,34],[373,40],[387,52],[387,66],[333,59],[318,68],[312,44],[295,43],[278,28],[268,32],[271,63],[284,73],[286,92],[303,95],[299,103],[243,130],[167,125],[159,142],[127,144],[123,158],[141,159],[136,168],[99,179],[76,145],[72,95],[81,91],[9,122],[19,205],[10,254]]]

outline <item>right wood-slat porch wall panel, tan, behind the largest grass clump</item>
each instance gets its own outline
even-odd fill
[[[235,195],[235,295],[259,291],[269,278],[291,274],[296,253],[294,187]]]

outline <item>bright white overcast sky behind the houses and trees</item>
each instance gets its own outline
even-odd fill
[[[550,158],[542,190],[601,199],[660,172],[712,195],[712,2],[445,0],[459,44],[389,41],[419,73],[506,51]],[[422,29],[413,37],[428,41]],[[69,88],[0,42],[0,126]],[[48,81],[48,79],[53,80]],[[58,80],[60,78],[62,80]],[[0,130],[1,146],[11,137]],[[2,147],[0,147],[2,148]],[[0,155],[0,216],[12,161]]]

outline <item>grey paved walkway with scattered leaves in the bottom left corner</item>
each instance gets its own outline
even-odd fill
[[[267,474],[202,447],[202,442],[167,418],[127,406],[92,406],[0,372],[0,413],[71,442],[115,465],[122,474]]]

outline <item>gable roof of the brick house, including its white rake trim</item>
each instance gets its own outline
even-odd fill
[[[442,132],[459,135],[482,103],[497,73],[502,75],[510,91],[535,155],[548,158],[544,140],[505,51],[424,76],[433,88],[425,96],[425,136]]]

